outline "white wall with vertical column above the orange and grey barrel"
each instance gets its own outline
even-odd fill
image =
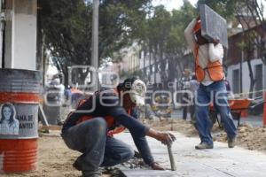
[[[2,0],[0,67],[36,69],[37,0]]]

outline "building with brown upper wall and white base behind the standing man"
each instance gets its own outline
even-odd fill
[[[254,42],[246,42],[248,41],[245,40],[246,33],[255,34]],[[264,39],[260,39],[262,36]],[[252,96],[262,96],[263,89],[266,88],[266,65],[262,62],[266,52],[266,43],[264,46],[258,46],[263,45],[263,41],[266,42],[266,32],[262,30],[261,26],[229,37],[229,50],[224,64],[227,66],[227,80],[230,81],[231,89],[237,96],[250,96],[250,72],[254,75],[254,93]],[[250,66],[248,61],[250,61]]]

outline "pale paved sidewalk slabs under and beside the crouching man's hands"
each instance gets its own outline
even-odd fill
[[[172,150],[176,159],[176,171],[153,171],[151,169],[121,168],[127,177],[264,177],[266,176],[266,154],[244,150],[239,147],[227,148],[227,143],[215,142],[213,150],[195,150],[199,138],[185,137],[175,133],[176,142]],[[124,133],[115,136],[134,147],[131,135]],[[148,137],[153,157],[160,164],[170,168],[167,147]]]

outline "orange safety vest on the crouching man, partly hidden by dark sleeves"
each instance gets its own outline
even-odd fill
[[[114,89],[114,93],[118,95],[118,92],[116,89]],[[84,102],[86,101],[86,99],[82,99],[78,106],[79,107],[80,105],[82,105]],[[130,115],[131,114],[131,110],[129,109],[128,111],[128,114]],[[76,122],[76,124],[80,124],[82,123],[83,121],[86,121],[88,119],[93,119],[94,117],[92,116],[82,116],[80,119],[78,119],[78,121]],[[114,118],[113,116],[106,116],[104,117],[106,119],[106,123],[107,123],[107,127],[113,127],[113,124],[114,124]],[[109,130],[107,135],[108,136],[113,136],[115,134],[119,134],[121,132],[123,132],[126,128],[125,127],[115,127],[113,130]]]

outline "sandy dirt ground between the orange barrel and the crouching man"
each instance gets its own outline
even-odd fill
[[[75,170],[72,164],[79,152],[67,149],[59,131],[40,134],[38,140],[38,169],[33,173],[0,174],[1,177],[80,177],[82,173]],[[104,177],[110,175],[104,174]]]

